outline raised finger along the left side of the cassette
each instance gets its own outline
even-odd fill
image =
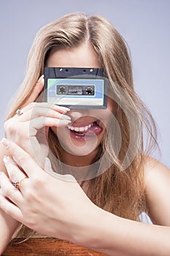
[[[30,97],[28,97],[28,99],[26,100],[26,102],[24,103],[24,105],[22,106],[22,108],[24,108],[26,105],[28,105],[31,102],[34,102],[36,100],[36,98],[39,96],[40,92],[42,91],[43,87],[44,87],[44,75],[42,75],[39,80],[36,82],[34,89],[31,91],[31,95]]]

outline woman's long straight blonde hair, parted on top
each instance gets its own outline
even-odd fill
[[[88,196],[93,203],[113,214],[137,220],[142,211],[147,211],[144,195],[144,154],[156,145],[156,128],[150,112],[134,92],[131,59],[125,40],[106,19],[98,15],[87,17],[82,13],[72,13],[40,29],[28,55],[26,78],[13,100],[7,118],[14,116],[15,111],[28,99],[36,80],[44,72],[50,50],[76,48],[85,41],[93,45],[101,67],[107,73],[111,93],[116,99],[115,118],[122,137],[118,154],[115,154],[117,135],[114,128],[114,140],[110,140],[107,135],[104,137],[99,151],[103,155],[107,150],[113,164],[106,172],[90,180]],[[131,116],[133,124],[129,124],[127,115]],[[147,134],[145,146],[143,133]],[[58,155],[56,141],[56,136],[50,131],[50,147],[53,154]],[[131,141],[133,143],[130,145]],[[125,170],[122,171],[124,160]]]

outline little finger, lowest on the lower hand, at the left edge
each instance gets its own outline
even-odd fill
[[[15,206],[13,203],[9,202],[9,200],[7,200],[3,195],[1,195],[1,193],[0,208],[12,218],[17,219],[18,222],[23,222],[23,214],[20,211],[20,208],[18,208],[18,206]]]

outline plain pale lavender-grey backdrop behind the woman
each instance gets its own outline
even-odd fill
[[[170,167],[169,0],[0,0],[0,135],[9,99],[26,72],[36,31],[69,12],[99,14],[115,25],[131,48],[136,91],[160,132],[161,161]]]

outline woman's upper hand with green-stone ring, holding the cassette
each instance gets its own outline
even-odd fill
[[[69,116],[66,116],[69,108],[47,102],[34,102],[43,86],[42,78],[22,106],[21,115],[16,114],[4,123],[6,137],[27,151],[40,165],[44,165],[48,154],[49,127],[66,127],[71,122]]]

